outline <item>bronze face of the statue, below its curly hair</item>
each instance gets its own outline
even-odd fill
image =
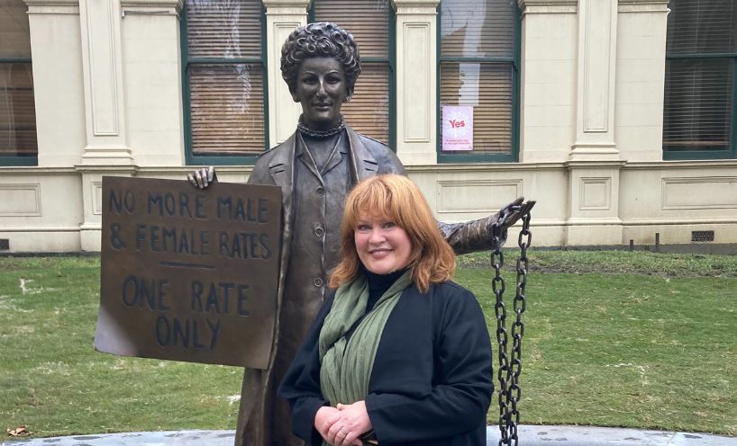
[[[302,105],[308,129],[332,129],[341,119],[341,106],[350,97],[341,63],[335,58],[307,58],[299,67],[292,98]]]

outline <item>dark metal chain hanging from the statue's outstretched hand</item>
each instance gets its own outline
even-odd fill
[[[524,295],[527,286],[527,248],[532,243],[532,232],[530,231],[530,213],[522,216],[523,227],[518,238],[520,256],[517,259],[517,286],[514,292],[514,314],[516,315],[512,325],[512,361],[507,357],[507,333],[506,333],[506,308],[504,303],[505,281],[501,270],[504,266],[504,254],[501,250],[500,237],[494,234],[496,249],[491,254],[491,265],[494,267],[495,276],[491,282],[491,288],[496,296],[496,342],[498,343],[499,370],[499,430],[501,436],[499,446],[517,446],[517,426],[520,423],[520,413],[517,410],[517,402],[522,398],[519,378],[522,373],[522,338],[524,336],[524,324],[522,315],[527,306]]]

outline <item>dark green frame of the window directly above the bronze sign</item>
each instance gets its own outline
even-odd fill
[[[192,98],[189,88],[189,76],[187,68],[190,65],[236,65],[253,64],[260,65],[263,70],[263,108],[264,108],[264,147],[266,152],[269,146],[268,140],[268,53],[266,33],[266,13],[263,2],[259,1],[259,22],[261,25],[261,57],[260,58],[189,58],[187,53],[187,1],[184,1],[179,15],[179,39],[182,54],[182,118],[184,120],[185,141],[185,164],[186,165],[255,165],[259,155],[205,155],[196,156],[192,151]],[[263,153],[262,152],[262,153]]]

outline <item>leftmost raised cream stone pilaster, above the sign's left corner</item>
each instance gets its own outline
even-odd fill
[[[125,128],[120,0],[79,0],[86,147],[82,165],[132,165]]]

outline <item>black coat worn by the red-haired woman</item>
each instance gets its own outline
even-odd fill
[[[279,388],[292,407],[293,432],[319,445],[314,415],[320,391],[318,338],[332,307],[325,301]],[[486,320],[474,295],[458,284],[407,288],[387,320],[369,381],[366,406],[381,446],[485,446],[494,389]]]

